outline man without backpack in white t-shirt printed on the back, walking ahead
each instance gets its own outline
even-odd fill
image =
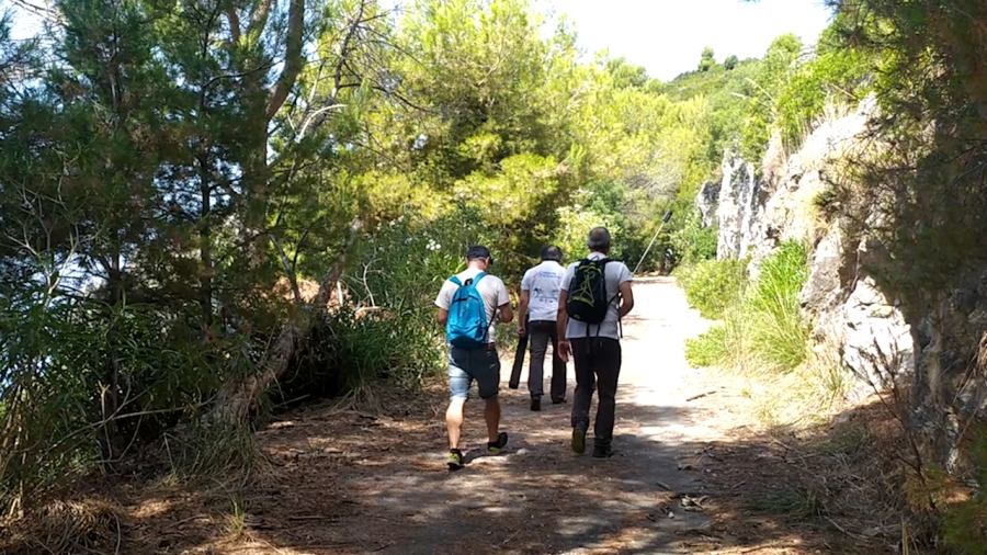
[[[542,249],[542,263],[524,272],[521,280],[521,302],[518,313],[527,315],[527,328],[521,324],[518,332],[531,341],[531,362],[527,370],[527,390],[531,409],[542,410],[544,392],[545,354],[552,341],[552,403],[566,401],[566,363],[558,355],[558,294],[566,269],[561,262],[561,249],[555,246]]]

